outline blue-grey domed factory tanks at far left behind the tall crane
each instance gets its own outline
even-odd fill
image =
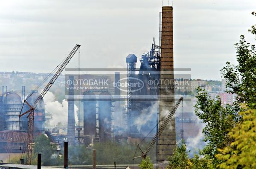
[[[19,119],[20,110],[25,99],[25,87],[22,91],[7,90],[7,86],[2,88],[2,96],[0,97],[0,152],[20,152],[26,147],[27,142],[27,123],[26,116]],[[29,99],[30,104],[34,103],[38,97],[35,92]],[[27,104],[24,104],[23,111],[29,109]],[[36,137],[44,133],[44,101],[38,104],[38,109],[35,110],[35,125],[34,134]]]

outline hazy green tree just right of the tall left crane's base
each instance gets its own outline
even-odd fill
[[[33,158],[36,159],[37,154],[40,153],[43,165],[50,165],[51,156],[56,149],[57,147],[51,145],[51,140],[48,137],[45,135],[39,135],[37,138],[35,138]]]

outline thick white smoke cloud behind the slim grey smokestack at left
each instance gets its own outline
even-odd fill
[[[62,124],[67,124],[67,114],[68,114],[68,101],[65,99],[62,102],[55,100],[55,96],[52,92],[47,92],[44,96],[45,112],[50,113],[52,118],[49,120],[51,127],[55,127],[58,122]],[[75,105],[75,122],[78,125],[78,107]]]

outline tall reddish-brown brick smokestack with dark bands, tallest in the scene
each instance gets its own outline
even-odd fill
[[[174,86],[165,85],[167,80],[174,79],[173,73],[173,18],[172,6],[162,7],[162,28],[161,28],[161,63],[160,63],[160,112],[159,125],[165,120],[165,113],[174,107]],[[166,90],[168,89],[168,90]],[[171,90],[169,90],[171,89]],[[175,118],[173,117],[166,129],[159,136],[158,141],[159,161],[168,160],[168,156],[173,154],[176,144]]]

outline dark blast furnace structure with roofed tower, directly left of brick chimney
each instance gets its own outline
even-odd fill
[[[136,70],[137,56],[129,54],[126,57],[128,69],[128,93],[127,93],[127,115],[128,115],[128,136],[132,138],[142,138],[147,135],[152,126],[157,124],[157,107],[156,100],[159,91],[156,85],[150,85],[148,82],[157,82],[159,80],[160,71],[160,46],[153,44],[147,54],[143,54],[140,58],[140,69]],[[131,84],[139,80],[143,83],[143,87]],[[152,99],[152,100],[151,100]],[[154,111],[151,113],[151,111]],[[137,120],[140,116],[153,114],[146,124],[140,125]],[[153,133],[154,134],[154,133]]]

